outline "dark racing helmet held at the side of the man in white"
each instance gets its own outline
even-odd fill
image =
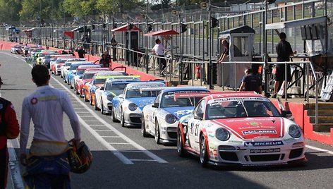
[[[78,147],[74,145],[74,142],[69,141],[68,143],[72,147],[68,155],[71,172],[85,173],[92,164],[92,154],[89,147],[83,141],[80,142]]]

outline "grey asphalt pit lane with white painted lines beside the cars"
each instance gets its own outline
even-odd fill
[[[9,51],[0,51],[0,63],[4,80],[0,92],[13,102],[20,120],[23,97],[36,88],[30,76],[31,65]],[[89,171],[71,175],[72,188],[332,188],[332,146],[308,140],[306,166],[202,168],[197,157],[178,157],[175,146],[157,145],[153,138],[143,138],[140,129],[111,122],[111,116],[95,111],[59,76],[52,76],[50,85],[70,94],[82,124],[82,140],[94,157]],[[68,118],[64,120],[69,140],[73,132]],[[18,156],[17,140],[9,146]],[[22,173],[24,167],[19,168]],[[19,181],[14,179],[13,188],[19,188]]]

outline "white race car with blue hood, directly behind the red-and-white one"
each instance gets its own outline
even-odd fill
[[[152,104],[143,108],[141,133],[152,135],[157,144],[176,142],[179,118],[190,114],[200,97],[188,97],[174,101],[176,93],[207,93],[206,87],[168,87],[162,90]]]

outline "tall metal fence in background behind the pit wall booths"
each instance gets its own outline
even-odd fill
[[[324,8],[318,8],[315,6],[317,3],[323,2],[322,0],[309,0],[301,1],[293,4],[278,4],[270,6],[267,10],[267,23],[278,23],[287,20],[296,20],[301,18],[313,18],[317,16],[323,16],[325,14]],[[243,5],[239,5],[243,6]],[[229,30],[231,28],[236,28],[242,25],[249,25],[255,30],[255,55],[263,57],[264,44],[263,37],[264,31],[263,28],[263,6],[260,4],[253,4],[252,11],[246,11],[242,13],[241,11],[235,11],[235,6],[229,6],[226,8],[212,8],[212,16],[218,19],[218,27],[212,29],[212,36],[210,36],[210,25],[208,20],[209,12],[205,9],[194,9],[194,10],[183,10],[178,11],[177,16],[172,16],[171,11],[163,13],[162,18],[159,14],[159,18],[163,22],[157,22],[158,15],[148,15],[145,19],[140,18],[138,22],[134,22],[127,18],[124,18],[123,21],[116,19],[115,23],[107,23],[105,27],[103,24],[95,25],[95,28],[92,28],[92,25],[71,25],[66,27],[61,26],[48,26],[48,27],[35,27],[35,28],[20,28],[21,32],[19,34],[12,33],[6,30],[5,27],[1,28],[1,39],[10,40],[12,42],[21,42],[23,44],[42,44],[49,47],[58,47],[61,49],[78,49],[80,46],[84,46],[87,53],[100,55],[103,51],[109,51],[111,54],[111,35],[115,34],[116,41],[118,42],[117,56],[119,61],[127,61],[126,63],[134,68],[142,69],[142,71],[150,72],[154,71],[152,74],[157,74],[157,64],[156,57],[150,53],[150,49],[155,45],[155,39],[157,37],[145,37],[143,36],[147,33],[147,24],[152,25],[152,30],[181,30],[181,24],[187,25],[186,32],[183,32],[182,35],[172,35],[171,38],[164,39],[162,37],[162,42],[165,47],[169,47],[169,56],[166,57],[167,61],[167,76],[171,78],[178,77],[180,78],[181,69],[184,63],[195,63],[199,64],[202,68],[202,76],[200,80],[202,83],[207,83],[207,65],[206,61],[212,57],[212,61],[216,61],[217,57],[220,54],[219,47],[219,32],[224,30]],[[327,13],[329,18],[330,10],[332,7],[327,8]],[[190,14],[192,13],[192,14]],[[149,18],[149,19],[148,19]],[[164,18],[169,18],[166,20]],[[125,24],[134,24],[140,28],[138,33],[138,49],[128,49],[126,47],[126,32],[111,32],[114,27],[120,27]],[[332,26],[329,26],[332,28]],[[84,28],[78,30],[79,28]],[[31,31],[31,36],[27,35],[27,32],[23,30]],[[70,39],[64,35],[64,31],[74,31],[73,39]],[[75,31],[76,30],[76,31]],[[86,40],[85,30],[90,30],[90,39]],[[292,28],[289,30],[284,30],[286,32],[287,38],[291,43],[293,49],[297,51],[303,51],[303,41],[301,39],[300,28]],[[331,34],[332,36],[332,34]],[[212,39],[212,49],[210,47],[210,38]],[[267,32],[267,52],[274,53],[275,44],[279,40],[277,35],[274,35],[274,31]],[[140,55],[140,57],[139,57]],[[128,59],[127,56],[133,56]],[[136,57],[136,60],[140,63],[128,62],[133,61]],[[186,58],[186,61],[179,59],[179,56],[192,56],[193,58]],[[139,59],[140,58],[140,59]],[[147,62],[146,62],[147,60]],[[141,66],[141,67],[140,67]],[[194,68],[195,66],[191,66]],[[176,71],[176,72],[175,72]],[[178,75],[175,75],[178,74]],[[194,72],[192,72],[194,73]],[[190,78],[194,78],[193,75]]]

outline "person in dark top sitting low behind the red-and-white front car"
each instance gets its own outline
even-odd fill
[[[242,79],[241,87],[239,91],[255,91],[258,94],[262,94],[262,86],[260,78],[253,74],[252,68],[246,68],[244,71],[245,75]]]

